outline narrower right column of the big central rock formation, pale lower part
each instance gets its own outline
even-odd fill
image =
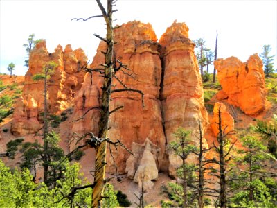
[[[176,141],[173,133],[181,126],[194,131],[192,140],[199,144],[199,121],[206,128],[208,113],[204,107],[202,79],[194,53],[195,44],[188,38],[188,27],[184,23],[174,22],[161,36],[159,43],[163,46],[161,99],[167,143]],[[175,175],[181,159],[173,153],[168,153],[168,157],[169,173]]]

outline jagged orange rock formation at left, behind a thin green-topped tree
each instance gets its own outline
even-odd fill
[[[82,49],[72,51],[69,44],[62,51],[62,46],[58,45],[55,52],[49,53],[45,40],[37,43],[30,53],[24,89],[15,107],[11,128],[14,135],[31,134],[41,128],[39,123],[42,121],[40,113],[44,112],[44,81],[33,80],[33,76],[43,73],[43,67],[49,62],[57,64],[48,80],[47,108],[50,114],[66,109],[82,86],[84,71],[80,66],[87,63]]]

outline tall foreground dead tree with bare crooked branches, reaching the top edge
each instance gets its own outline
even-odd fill
[[[87,19],[79,18],[76,19],[87,21],[89,19],[95,17],[104,17],[105,24],[107,27],[106,37],[100,37],[100,35],[94,34],[100,40],[104,41],[107,44],[107,51],[103,51],[102,53],[105,54],[105,64],[102,64],[102,68],[100,69],[88,69],[84,67],[85,70],[89,73],[100,73],[100,76],[103,76],[103,85],[102,85],[102,103],[100,107],[97,107],[100,110],[100,121],[98,123],[99,133],[98,133],[98,142],[96,142],[95,138],[90,138],[87,141],[87,144],[92,148],[96,148],[96,164],[95,164],[95,176],[94,176],[94,184],[93,184],[93,193],[92,193],[92,207],[100,207],[102,201],[102,193],[105,186],[105,166],[106,166],[106,152],[107,152],[107,132],[109,130],[109,115],[116,110],[122,108],[123,106],[117,107],[114,110],[109,111],[109,103],[111,100],[111,94],[116,92],[136,92],[141,94],[143,100],[143,92],[138,89],[131,89],[124,85],[117,77],[116,72],[127,69],[127,66],[123,65],[120,60],[117,60],[114,55],[114,27],[112,26],[113,18],[112,15],[117,10],[113,10],[113,6],[115,6],[116,0],[107,0],[107,11],[102,6],[100,0],[96,0],[98,6],[102,12],[102,15],[91,16]],[[118,66],[118,67],[116,67]],[[125,74],[130,75],[129,73],[125,72]],[[123,86],[123,89],[111,89],[111,83],[113,78],[119,81],[119,83]],[[91,79],[92,85],[92,79]],[[91,108],[95,109],[95,107]],[[100,141],[100,142],[99,142]]]

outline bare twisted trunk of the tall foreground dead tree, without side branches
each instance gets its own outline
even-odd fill
[[[98,6],[103,11],[105,10],[100,3],[96,0]],[[111,81],[114,76],[113,69],[113,53],[114,53],[114,40],[113,40],[113,27],[112,27],[112,3],[107,0],[107,15],[104,15],[107,26],[107,52],[105,54],[105,77],[102,86],[102,104],[101,117],[99,121],[99,138],[107,138],[108,124],[109,124],[109,102],[111,97]],[[92,207],[101,207],[102,192],[105,186],[105,164],[106,164],[107,142],[102,142],[96,146],[96,174],[94,177],[94,187],[92,193]]]

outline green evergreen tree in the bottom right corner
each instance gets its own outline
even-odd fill
[[[232,207],[274,207],[276,198],[271,196],[266,182],[271,176],[265,171],[265,161],[269,159],[266,147],[253,136],[242,138],[242,144],[236,158],[240,168],[234,171],[236,177],[231,183],[235,190],[231,198]]]

